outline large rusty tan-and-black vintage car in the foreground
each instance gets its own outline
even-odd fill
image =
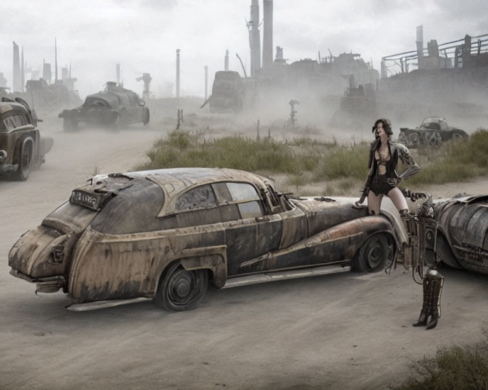
[[[290,197],[232,169],[97,175],[22,235],[11,274],[62,289],[70,310],[153,299],[195,308],[217,288],[386,267],[404,240],[399,215],[355,198]],[[386,203],[386,202],[385,202]]]

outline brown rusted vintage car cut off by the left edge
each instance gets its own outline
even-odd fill
[[[1,98],[0,174],[27,180],[31,169],[45,161],[53,146],[51,137],[41,137],[36,112],[22,98]]]

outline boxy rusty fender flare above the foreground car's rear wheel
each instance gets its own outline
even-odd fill
[[[186,271],[207,269],[212,271],[217,288],[227,281],[227,245],[182,250],[180,262]]]

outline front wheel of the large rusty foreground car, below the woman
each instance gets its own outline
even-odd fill
[[[386,233],[373,234],[356,252],[352,262],[352,271],[363,273],[381,271],[385,268],[389,255],[390,248]]]

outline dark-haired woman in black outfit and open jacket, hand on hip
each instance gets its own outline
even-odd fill
[[[407,147],[391,140],[393,131],[388,119],[376,120],[372,129],[375,140],[369,149],[369,176],[366,182],[367,205],[369,214],[380,214],[383,196],[388,196],[400,215],[408,213],[405,196],[398,188],[400,180],[416,175],[420,168]],[[407,169],[398,175],[396,167],[400,159]]]

